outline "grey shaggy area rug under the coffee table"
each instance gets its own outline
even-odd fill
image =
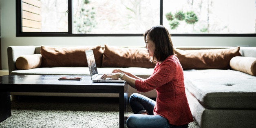
[[[22,96],[11,101],[11,117],[0,128],[118,128],[118,102],[103,97]],[[199,128],[196,122],[188,127]]]

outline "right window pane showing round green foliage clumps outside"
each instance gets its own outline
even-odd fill
[[[163,0],[170,33],[256,33],[255,0]]]

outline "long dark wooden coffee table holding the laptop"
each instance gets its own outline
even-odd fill
[[[128,84],[95,83],[89,75],[82,80],[58,80],[66,75],[4,75],[0,76],[0,122],[11,116],[10,92],[45,93],[119,93],[119,127],[125,126],[128,114]]]

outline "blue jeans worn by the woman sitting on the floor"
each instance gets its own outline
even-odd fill
[[[126,121],[128,128],[187,128],[188,124],[175,126],[168,123],[165,117],[153,115],[156,102],[148,97],[138,93],[133,93],[129,99],[133,115],[130,115]],[[143,115],[140,113],[148,113]]]

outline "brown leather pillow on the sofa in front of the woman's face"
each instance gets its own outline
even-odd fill
[[[122,48],[105,44],[102,67],[154,68],[155,64],[149,60],[148,52],[144,48]]]

